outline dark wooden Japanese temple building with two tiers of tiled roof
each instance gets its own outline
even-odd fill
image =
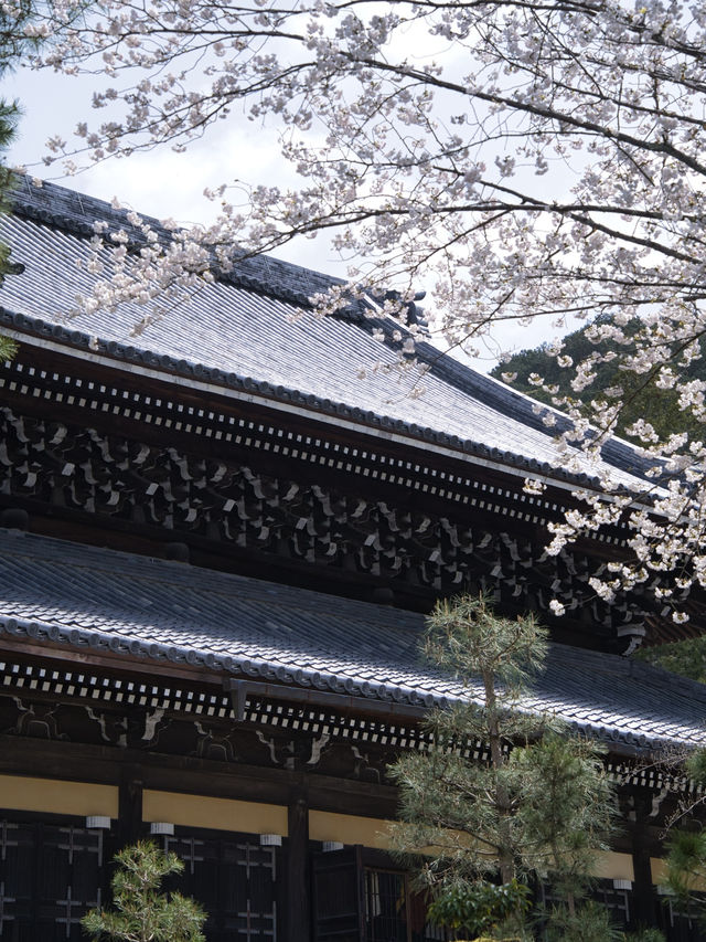
[[[82,939],[111,856],[149,835],[184,860],[208,942],[443,939],[388,853],[386,769],[464,696],[420,660],[425,613],[481,590],[550,629],[526,707],[608,749],[624,826],[598,897],[699,939],[660,898],[689,783],[652,760],[706,742],[706,688],[630,655],[703,629],[705,600],[675,625],[654,586],[596,597],[624,530],[544,551],[596,469],[424,341],[413,390],[398,324],[314,316],[333,278],[257,257],[147,320],[75,315],[104,222],[139,251],[125,212],[24,178],[0,221],[19,342],[0,368],[0,942]],[[620,441],[603,462],[644,470]]]

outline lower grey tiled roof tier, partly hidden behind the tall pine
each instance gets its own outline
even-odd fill
[[[0,530],[0,634],[371,702],[472,696],[420,661],[422,623],[395,608]],[[706,686],[566,645],[552,646],[525,707],[623,749],[706,742]]]

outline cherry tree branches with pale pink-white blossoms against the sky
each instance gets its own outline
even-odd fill
[[[601,349],[609,340],[608,352],[575,363],[556,346],[574,391],[590,389],[610,357],[637,375],[630,394],[676,387],[689,425],[706,421],[704,382],[680,380],[706,328],[704,0],[43,9],[31,30],[54,41],[38,65],[105,76],[97,121],[79,124],[74,144],[54,138],[50,160],[183,149],[223,120],[243,120],[247,146],[247,121],[274,121],[301,179],[245,201],[236,180],[223,181],[213,225],[169,245],[143,233],[142,251],[118,260],[88,305],[149,303],[232,265],[234,245],[259,252],[328,232],[352,271],[349,287],[314,299],[322,314],[357,295],[404,315],[422,286],[432,328],[467,350],[502,321],[548,319],[560,331],[568,318],[602,315],[588,335]],[[389,287],[397,300],[383,303]],[[405,354],[418,329],[403,335]],[[598,469],[625,390],[596,390],[588,411],[548,392],[573,419],[557,433],[567,462],[579,451],[580,467]],[[629,521],[629,557],[593,588],[610,599],[672,572],[659,591],[682,621],[677,596],[694,580],[706,585],[704,436],[661,436],[641,420],[631,435],[644,447],[641,479],[617,487],[605,476],[582,495],[585,510],[555,527],[549,551]]]

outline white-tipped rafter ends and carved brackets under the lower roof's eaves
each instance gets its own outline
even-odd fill
[[[307,724],[311,728],[304,730]],[[205,720],[160,708],[126,712],[105,703],[12,694],[0,696],[0,734],[54,741],[67,750],[67,755],[72,745],[97,745],[115,750],[118,762],[128,750],[131,756],[142,752],[204,760],[208,768],[213,763],[224,768],[247,765],[377,785],[392,784],[387,769],[400,749],[424,750],[429,737],[415,723],[355,720],[257,700],[248,703],[244,722],[234,722],[232,718]],[[480,741],[469,741],[463,751],[473,762],[488,759],[488,747]],[[654,756],[609,760],[608,769],[614,781],[628,788],[628,801],[633,801],[630,795],[635,788],[642,790],[651,821],[663,821],[680,795],[692,790],[692,783],[672,769],[668,758],[663,762]]]

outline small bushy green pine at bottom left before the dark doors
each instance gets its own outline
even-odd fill
[[[94,909],[82,920],[94,942],[205,942],[201,907],[181,893],[160,892],[164,877],[184,868],[175,854],[147,840],[120,850],[115,860],[115,911]]]

